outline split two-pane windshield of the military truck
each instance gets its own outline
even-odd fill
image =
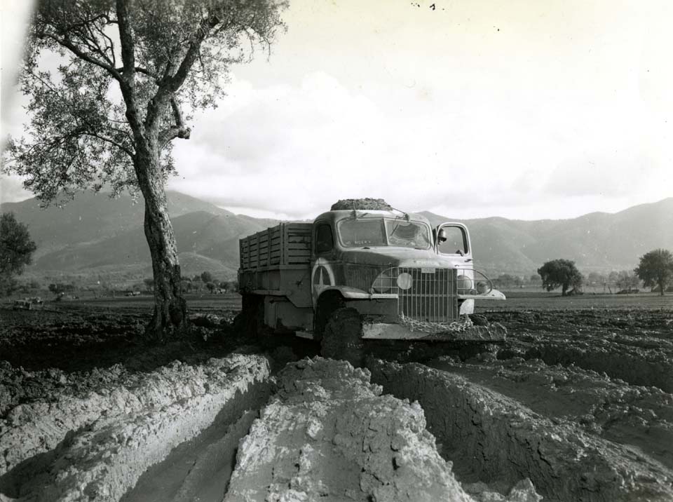
[[[421,223],[404,219],[342,219],[338,225],[346,247],[402,246],[430,248],[430,232]]]

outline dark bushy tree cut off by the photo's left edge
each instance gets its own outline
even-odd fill
[[[27,226],[16,221],[13,212],[0,216],[0,294],[9,294],[20,276],[32,262],[37,246],[30,238]]]

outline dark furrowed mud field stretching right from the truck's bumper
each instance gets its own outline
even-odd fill
[[[499,358],[576,365],[673,392],[671,310],[502,312],[487,317],[503,322],[513,334]]]

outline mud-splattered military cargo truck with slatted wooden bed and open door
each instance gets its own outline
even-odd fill
[[[354,364],[368,339],[505,339],[503,327],[470,320],[475,299],[505,296],[475,270],[461,223],[432,228],[392,208],[339,209],[239,244],[241,317],[252,332],[314,339],[325,357]]]

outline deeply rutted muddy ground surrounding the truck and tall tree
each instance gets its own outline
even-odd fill
[[[353,369],[215,307],[153,349],[3,310],[0,501],[673,501],[673,305],[482,313],[506,344]]]

